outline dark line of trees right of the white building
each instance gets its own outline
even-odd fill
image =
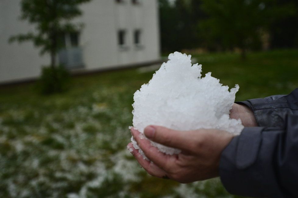
[[[159,0],[162,51],[298,47],[297,0]]]

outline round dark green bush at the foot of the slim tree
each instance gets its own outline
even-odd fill
[[[43,94],[53,94],[68,90],[68,70],[62,65],[54,68],[43,67],[41,70],[41,78],[39,80],[39,88]]]

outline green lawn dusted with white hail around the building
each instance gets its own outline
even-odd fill
[[[203,73],[239,84],[236,100],[298,87],[298,50],[194,55]],[[72,79],[64,94],[34,83],[0,88],[0,197],[235,197],[219,179],[182,185],[153,178],[126,149],[133,93],[154,71],[126,69]],[[204,76],[204,75],[203,75]]]

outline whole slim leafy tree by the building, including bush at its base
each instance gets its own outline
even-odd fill
[[[82,14],[78,5],[90,0],[22,0],[21,19],[36,25],[36,31],[19,34],[9,38],[9,42],[32,41],[41,48],[40,53],[50,53],[51,68],[43,68],[40,88],[42,93],[50,94],[66,90],[68,72],[61,65],[56,67],[56,55],[63,47],[61,37],[83,27],[71,20]]]

